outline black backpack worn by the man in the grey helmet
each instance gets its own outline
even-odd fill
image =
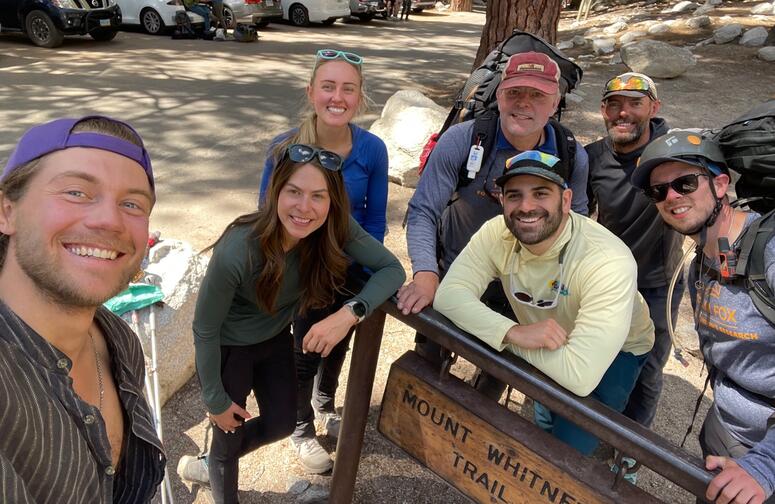
[[[756,308],[775,325],[775,294],[764,276],[764,249],[775,237],[775,100],[752,108],[714,139],[727,166],[740,175],[735,204],[762,214],[739,238],[735,281],[748,289]]]

